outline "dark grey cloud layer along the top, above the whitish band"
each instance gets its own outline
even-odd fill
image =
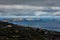
[[[60,0],[0,0],[0,4],[18,4],[35,6],[60,6]]]

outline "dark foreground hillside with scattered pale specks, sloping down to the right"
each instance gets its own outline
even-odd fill
[[[0,40],[60,40],[60,32],[0,21]]]

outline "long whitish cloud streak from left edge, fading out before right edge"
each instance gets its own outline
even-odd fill
[[[42,6],[30,6],[30,5],[0,5],[0,8],[5,8],[5,9],[32,9],[32,10],[47,9],[46,7],[42,7]]]

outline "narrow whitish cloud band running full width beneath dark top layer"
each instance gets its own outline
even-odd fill
[[[0,9],[31,9],[31,10],[60,10],[60,7],[55,6],[31,6],[31,5],[0,5]]]

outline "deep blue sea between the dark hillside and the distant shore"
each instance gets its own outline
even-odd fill
[[[7,18],[8,19],[8,18]],[[6,19],[0,19],[0,20],[6,20]],[[10,20],[10,19],[8,19]],[[47,29],[47,30],[53,30],[53,31],[60,31],[60,21],[57,20],[21,20],[21,21],[9,21],[9,23],[27,26],[27,27],[33,27],[33,28],[41,28],[41,29]]]

